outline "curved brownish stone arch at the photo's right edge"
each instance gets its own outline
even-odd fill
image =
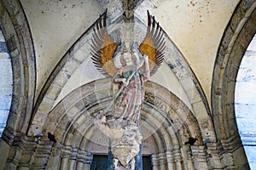
[[[236,126],[236,75],[242,56],[256,33],[255,8],[253,1],[244,0],[237,5],[220,42],[212,77],[212,115],[217,138],[224,150],[232,150],[234,164],[230,167],[238,169],[247,167],[247,160]]]

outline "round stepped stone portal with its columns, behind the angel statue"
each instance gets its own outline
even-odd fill
[[[48,168],[65,169],[72,166],[78,169],[90,167],[91,153],[107,153],[108,138],[94,126],[93,116],[110,103],[108,82],[109,79],[100,79],[85,84],[55,106],[44,125],[44,133],[54,133],[57,144],[50,149],[50,143],[43,139],[44,148],[49,148],[50,156],[43,157],[38,152],[35,156],[37,162],[48,161]],[[101,84],[101,87],[96,88],[96,84]],[[156,94],[152,94],[154,90]],[[154,167],[190,169],[194,163],[196,167],[201,164],[207,166],[207,160],[199,161],[196,153],[196,150],[203,147],[201,130],[195,116],[175,95],[154,82],[146,83],[142,128],[146,133],[145,139],[154,144],[154,150],[143,145],[144,152],[152,156]],[[192,136],[199,139],[193,148],[195,153],[192,153],[189,146],[183,145]],[[191,154],[195,156],[194,160]]]

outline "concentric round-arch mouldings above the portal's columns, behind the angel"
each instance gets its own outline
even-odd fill
[[[97,144],[103,150],[101,154],[106,154],[108,138],[104,139],[104,135],[94,126],[94,115],[108,107],[112,99],[109,81],[101,79],[90,82],[68,94],[50,112],[44,133],[54,133],[58,143],[79,150],[98,153],[99,150],[92,147],[92,144]],[[101,88],[97,89],[96,84],[101,84]],[[155,150],[148,154],[172,153],[174,150],[176,153],[178,150],[182,155],[180,149],[189,136],[196,137],[200,141],[197,144],[201,144],[198,122],[181,100],[154,82],[147,82],[145,89],[142,131],[146,132],[144,139],[153,139],[152,144],[155,144]]]

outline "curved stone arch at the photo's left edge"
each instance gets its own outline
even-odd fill
[[[26,133],[35,92],[35,54],[32,35],[20,1],[1,1],[0,27],[13,68],[13,99],[3,139],[11,144],[15,135]],[[19,134],[20,135],[20,134]]]

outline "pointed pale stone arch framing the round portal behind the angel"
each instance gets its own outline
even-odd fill
[[[120,29],[118,26],[122,25],[122,23],[120,23],[120,20],[118,19],[114,21],[112,20],[112,22],[113,25],[109,26],[109,29],[111,30],[110,35],[113,36],[113,39],[118,39],[119,35],[117,34]],[[141,22],[138,22],[136,25],[141,29],[142,32],[146,31],[146,27]],[[138,39],[142,39],[144,36],[140,31],[135,32],[135,34],[136,35],[134,37],[137,37]],[[91,28],[89,28],[89,30],[85,31],[84,34],[79,37],[78,41],[73,44],[73,47],[70,48],[67,54],[63,56],[59,65],[56,65],[55,71],[52,72],[48,82],[46,82],[44,86],[44,90],[42,90],[42,93],[38,97],[38,101],[33,112],[31,125],[28,131],[29,136],[42,132],[44,122],[49,116],[49,112],[53,110],[57,102],[59,102],[61,99],[64,99],[65,95],[68,94],[64,94],[60,99],[61,93],[65,90],[64,88],[66,88],[65,86],[73,77],[75,77],[74,75],[77,70],[82,70],[84,69],[83,67],[88,67],[88,71],[90,71],[90,73],[92,71],[96,72],[96,69],[90,62],[90,40]],[[184,98],[186,99],[184,100],[187,101],[186,105],[188,105],[189,108],[191,108],[191,111],[195,114],[201,130],[203,131],[202,134],[204,135],[204,138],[210,138],[211,141],[216,141],[215,133],[213,132],[210,109],[207,105],[207,100],[199,81],[195,77],[194,72],[189,67],[188,62],[184,58],[181,51],[179,51],[175,43],[172,42],[171,38],[167,35],[166,47],[168,48],[166,48],[166,57],[163,65],[166,66],[165,71],[168,71],[168,74],[163,73],[161,78],[164,77],[169,79],[168,76],[170,75],[175,77],[175,80],[178,83],[178,87],[175,87],[173,91],[177,93],[177,88],[181,88],[183,90],[185,95],[181,97],[185,96]],[[89,64],[84,65],[84,62]],[[169,71],[172,72],[172,74],[170,74]],[[92,76],[90,75],[90,81],[102,78],[97,77],[95,73],[92,75],[94,77],[91,78]],[[161,83],[164,81],[160,80],[159,82]],[[172,84],[172,82],[167,82],[166,84],[169,86]],[[78,85],[79,83],[73,84],[73,88],[77,88]]]

